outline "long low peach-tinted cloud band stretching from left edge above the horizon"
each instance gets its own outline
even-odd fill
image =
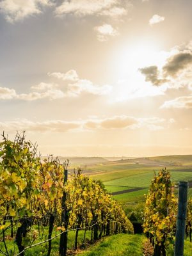
[[[133,116],[112,116],[108,118],[94,118],[88,120],[46,120],[43,122],[34,122],[27,119],[17,118],[13,121],[0,122],[1,131],[15,132],[15,131],[28,131],[28,132],[70,132],[70,131],[85,131],[88,130],[111,130],[111,129],[140,129],[147,128],[150,131],[157,131],[164,129],[162,124],[166,120],[163,118],[150,117],[150,118],[136,118]]]

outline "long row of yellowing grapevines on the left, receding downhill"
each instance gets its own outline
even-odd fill
[[[58,254],[66,255],[68,230],[91,232],[91,241],[103,234],[133,232],[122,207],[100,182],[83,176],[81,169],[67,177],[68,161],[52,156],[42,161],[36,145],[17,134],[14,141],[3,136],[0,145],[0,253],[24,255],[33,246],[60,237]]]

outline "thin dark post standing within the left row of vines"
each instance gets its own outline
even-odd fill
[[[65,162],[64,165],[64,186],[67,184],[67,177],[68,177],[68,161]],[[62,197],[62,212],[61,212],[61,225],[64,223],[65,230],[68,227],[68,215],[67,215],[67,192],[63,190],[63,197]],[[67,255],[67,232],[64,232],[60,236],[60,256]]]

